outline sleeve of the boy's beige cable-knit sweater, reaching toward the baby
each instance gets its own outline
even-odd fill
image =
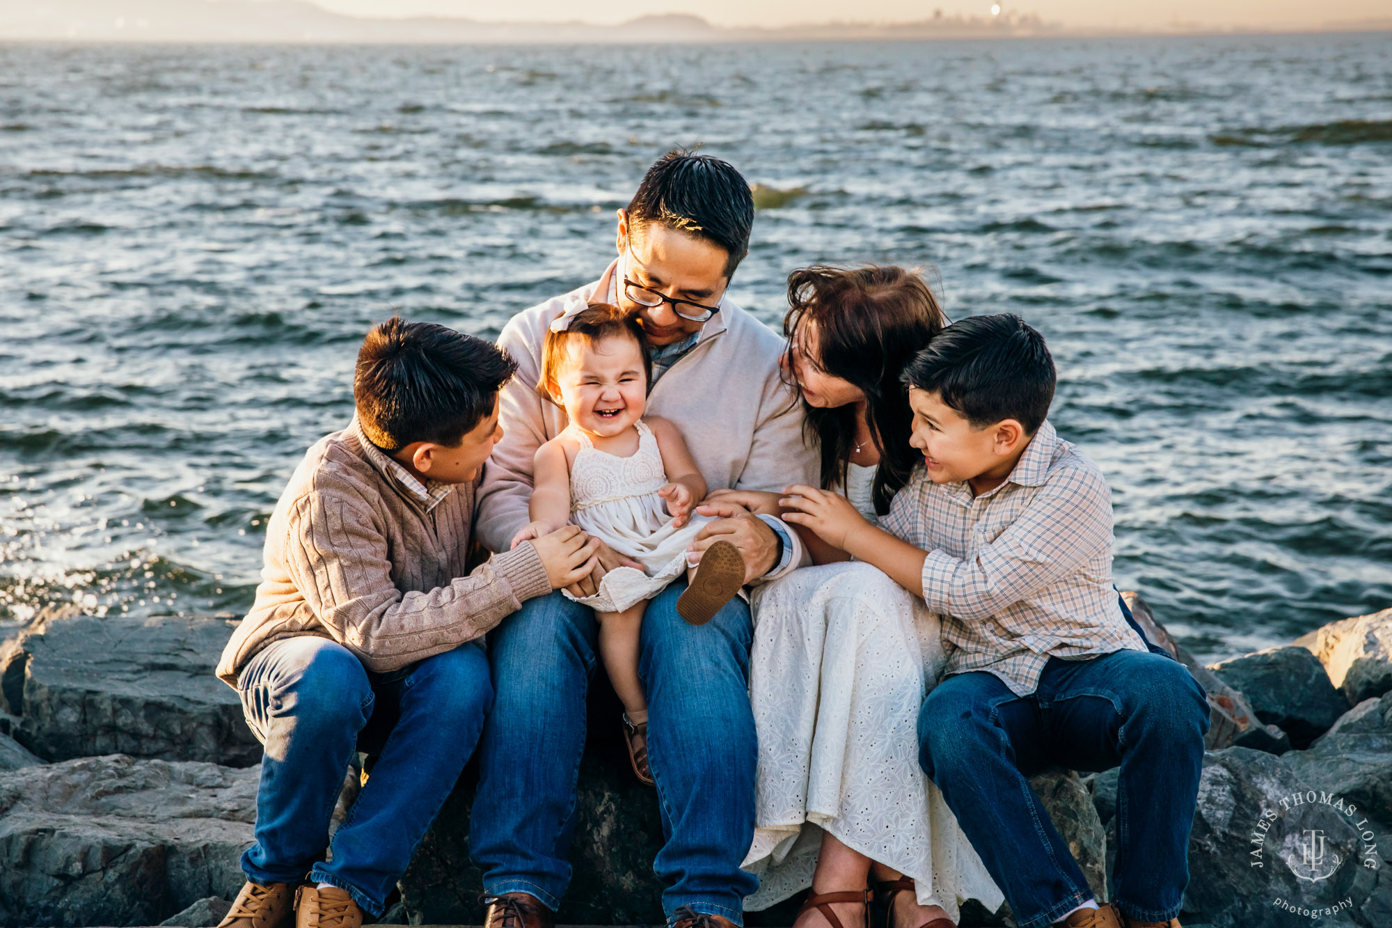
[[[447,587],[402,594],[372,516],[333,493],[306,496],[291,513],[285,567],[324,630],[377,673],[472,641],[551,591],[526,542]]]

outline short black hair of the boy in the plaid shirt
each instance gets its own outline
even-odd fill
[[[970,316],[933,336],[903,369],[905,386],[942,397],[973,428],[1016,419],[1034,435],[1054,401],[1044,336],[1013,315]]]

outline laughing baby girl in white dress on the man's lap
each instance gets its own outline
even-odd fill
[[[686,548],[710,521],[692,516],[706,481],[667,419],[643,417],[651,361],[638,320],[608,304],[562,316],[541,348],[537,390],[565,410],[569,425],[536,451],[532,523],[512,546],[567,523],[643,566],[617,567],[592,596],[565,595],[594,609],[600,658],[624,704],[624,734],[633,772],[647,766],[647,699],[638,677],[639,628],[647,601],[683,571],[689,585],[677,612],[692,624],[710,621],[745,581],[745,562],[729,542],[715,542],[690,567]]]

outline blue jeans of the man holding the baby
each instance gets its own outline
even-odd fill
[[[734,599],[692,626],[677,614],[685,588],[678,580],[649,602],[640,637],[647,757],[667,839],[653,869],[668,885],[668,921],[690,906],[739,925],[743,897],[759,886],[739,868],[754,833],[757,762],[749,606]],[[587,606],[553,592],[529,599],[489,640],[497,699],[479,743],[469,847],[490,895],[529,893],[554,910],[571,882],[597,630]]]

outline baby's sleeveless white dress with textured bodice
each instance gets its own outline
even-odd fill
[[[686,548],[711,521],[693,514],[681,528],[672,527],[667,500],[657,495],[668,484],[657,436],[642,419],[635,428],[638,450],[628,457],[601,451],[585,432],[572,429],[580,450],[571,463],[571,521],[643,564],[643,570],[608,571],[593,596],[582,599],[562,591],[594,612],[622,612],[661,592],[686,570]]]

